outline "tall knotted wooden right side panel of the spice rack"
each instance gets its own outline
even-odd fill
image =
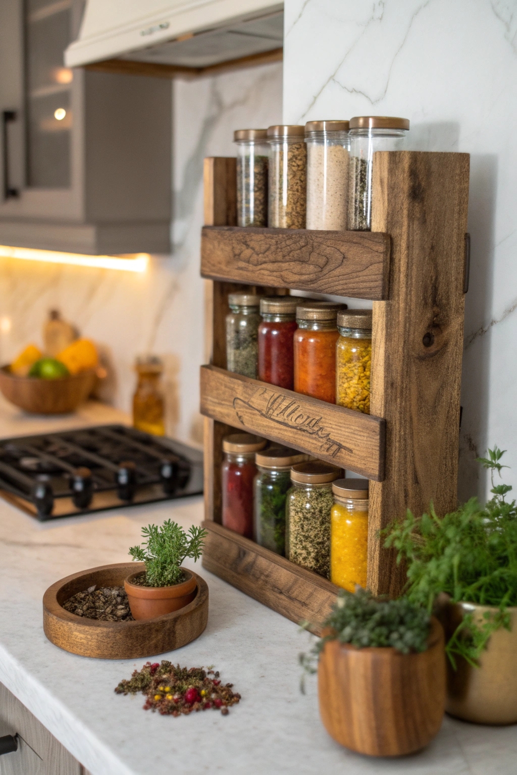
[[[405,581],[378,530],[406,508],[457,505],[468,184],[466,153],[374,157],[372,229],[391,235],[389,298],[373,316],[371,412],[386,419],[385,478],[370,487],[375,593],[396,595]]]

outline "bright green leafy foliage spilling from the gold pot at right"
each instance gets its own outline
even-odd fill
[[[439,518],[431,505],[429,514],[415,518],[408,511],[403,522],[384,531],[385,546],[398,549],[398,563],[407,563],[409,600],[430,612],[438,595],[445,592],[452,602],[498,609],[487,611],[482,625],[474,622],[474,614],[464,616],[446,644],[454,668],[455,656],[477,666],[491,633],[501,626],[510,629],[506,608],[517,605],[517,508],[515,501],[505,501],[512,487],[494,481],[505,468],[504,452],[495,446],[488,449],[488,457],[477,458],[491,471],[493,498],[484,508],[477,498],[470,498]]]

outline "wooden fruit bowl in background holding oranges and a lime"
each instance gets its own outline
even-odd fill
[[[88,398],[95,385],[95,369],[80,371],[70,377],[42,380],[39,377],[17,377],[9,366],[0,368],[0,390],[15,406],[36,415],[64,415],[74,412]]]

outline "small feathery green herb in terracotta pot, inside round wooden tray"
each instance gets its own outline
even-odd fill
[[[206,531],[191,526],[188,532],[167,519],[161,527],[142,528],[146,539],[142,546],[132,546],[133,560],[145,563],[145,570],[130,574],[124,581],[129,608],[135,619],[150,619],[178,611],[194,600],[197,588],[195,574],[181,563],[191,557],[198,560]]]

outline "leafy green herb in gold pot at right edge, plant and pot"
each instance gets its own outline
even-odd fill
[[[491,470],[492,498],[477,498],[443,518],[433,507],[386,530],[408,568],[406,594],[446,630],[450,715],[470,722],[517,722],[517,507],[507,501],[495,446],[478,462]]]

